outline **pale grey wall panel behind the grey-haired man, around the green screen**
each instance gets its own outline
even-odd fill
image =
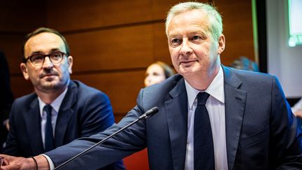
[[[289,46],[287,6],[287,0],[266,0],[268,73],[278,76],[288,99],[295,99],[302,96],[302,45]],[[300,22],[296,24],[302,27],[299,17]]]

